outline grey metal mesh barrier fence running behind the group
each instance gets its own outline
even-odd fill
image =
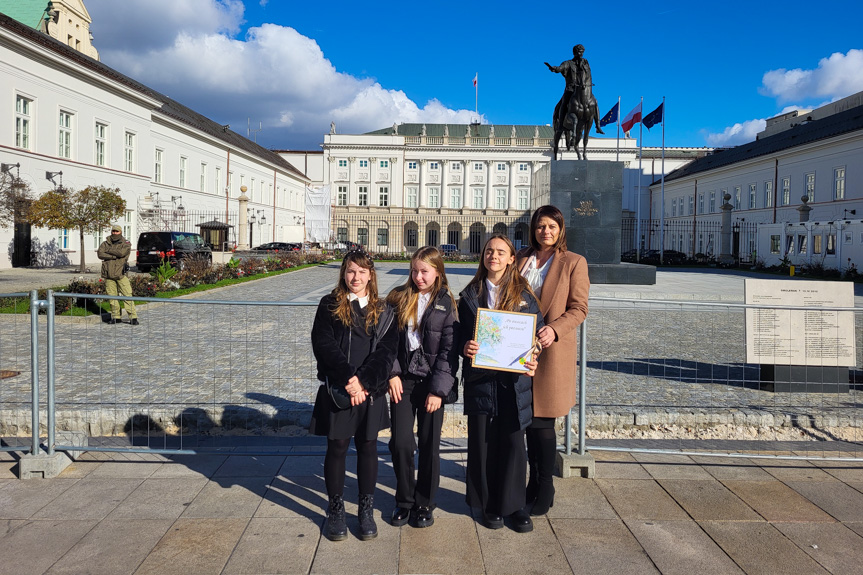
[[[134,327],[109,325],[99,315],[52,313],[54,305],[66,309],[73,300],[92,309],[109,299],[122,298],[49,291],[39,300],[32,292],[22,300],[30,306],[29,322],[26,316],[0,322],[0,367],[21,372],[0,388],[5,450],[37,453],[41,432],[49,454],[237,447],[251,454],[305,434],[319,385],[309,342],[314,306],[135,298],[148,305]],[[804,393],[784,393],[771,390],[759,365],[746,363],[744,312],[764,306],[603,297],[590,303],[581,328],[577,425],[567,420],[567,451],[577,433],[579,453],[698,450],[863,461],[856,367],[863,364],[856,321],[863,309],[806,308],[813,322],[823,312],[855,314],[856,366],[848,381],[838,382],[847,384],[842,388],[804,380]],[[39,317],[40,309],[47,315]],[[461,406],[447,409],[445,447],[461,448]],[[10,437],[25,428],[29,447]],[[65,443],[67,436],[55,432],[78,432],[85,443]],[[729,439],[731,447],[715,441]]]

